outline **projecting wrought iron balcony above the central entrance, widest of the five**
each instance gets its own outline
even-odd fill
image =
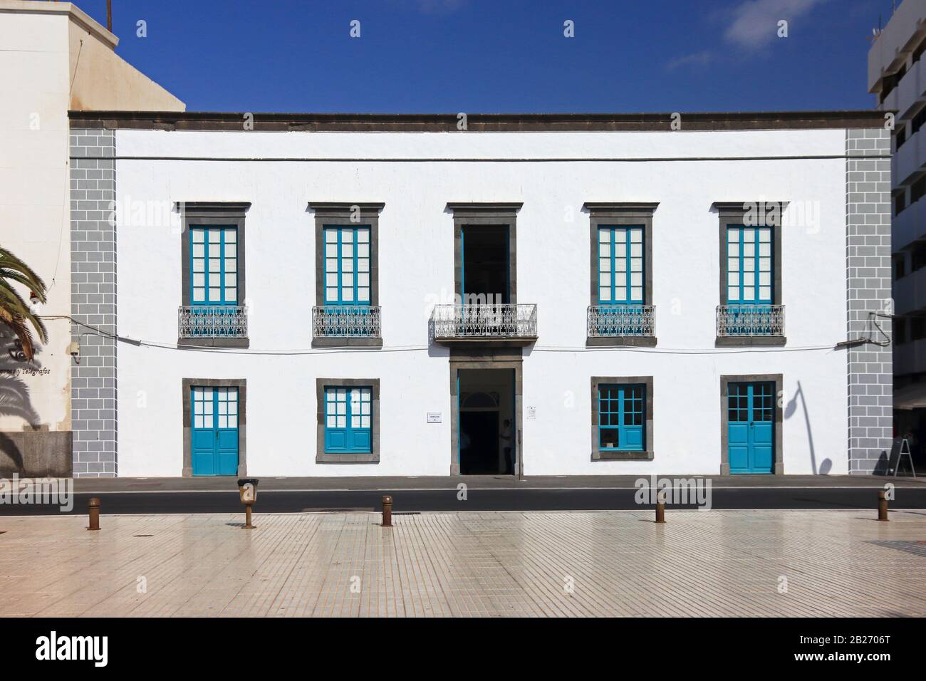
[[[499,340],[526,346],[537,340],[537,306],[435,305],[431,324],[438,343]]]

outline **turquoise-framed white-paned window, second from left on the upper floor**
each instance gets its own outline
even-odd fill
[[[369,225],[325,226],[325,305],[369,305]]]

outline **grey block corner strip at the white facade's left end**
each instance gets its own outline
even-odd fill
[[[119,473],[115,154],[112,130],[71,129],[71,340],[81,347],[70,372],[75,477]],[[103,406],[82,406],[90,404]]]

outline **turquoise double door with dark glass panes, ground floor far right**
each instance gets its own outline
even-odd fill
[[[774,473],[775,384],[727,384],[730,473]]]

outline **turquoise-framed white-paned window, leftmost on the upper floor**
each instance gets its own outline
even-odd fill
[[[236,227],[190,227],[191,302],[194,305],[238,304],[238,230]]]

